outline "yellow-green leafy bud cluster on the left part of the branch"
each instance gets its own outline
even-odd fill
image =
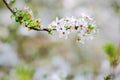
[[[40,28],[40,20],[34,19],[32,10],[29,7],[24,7],[23,10],[14,9],[15,15],[13,14],[11,17],[15,18],[15,21],[23,24],[30,30],[31,28]]]

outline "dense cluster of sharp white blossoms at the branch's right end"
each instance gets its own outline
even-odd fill
[[[82,44],[85,41],[93,39],[97,32],[95,21],[89,16],[81,16],[80,18],[66,17],[62,19],[56,18],[49,28],[56,29],[60,37],[68,38],[71,33],[76,33],[76,40]]]

